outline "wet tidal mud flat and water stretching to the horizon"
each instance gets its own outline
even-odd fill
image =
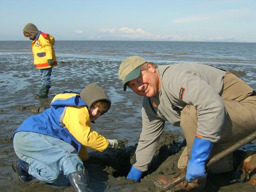
[[[63,91],[79,93],[88,83],[102,86],[112,101],[110,111],[92,129],[108,139],[129,140],[125,151],[90,152],[90,159],[84,165],[89,170],[93,190],[157,191],[153,182],[158,175],[179,174],[177,162],[185,143],[181,129],[166,122],[166,132],[148,172],[139,183],[125,179],[141,132],[142,99],[131,90],[124,92],[118,79],[118,66],[127,56],[140,55],[158,65],[184,61],[205,63],[233,72],[256,89],[256,44],[57,41],[59,65],[52,72],[49,98],[35,99],[40,80],[39,71],[32,64],[30,44],[30,41],[0,44],[0,191],[73,191],[70,186],[54,187],[37,180],[20,182],[11,167],[17,158],[12,134],[26,118],[49,108],[54,95]],[[255,146],[251,144],[247,149],[256,150]],[[238,173],[209,175],[205,191],[255,191],[253,186],[236,183],[238,177]]]

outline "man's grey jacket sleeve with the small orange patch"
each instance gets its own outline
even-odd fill
[[[211,142],[220,139],[226,109],[219,93],[201,77],[191,71],[180,71],[166,79],[164,86],[172,95],[176,106],[184,102],[194,105],[198,111],[197,134]],[[216,81],[216,79],[212,79]],[[181,89],[183,94],[181,95]]]

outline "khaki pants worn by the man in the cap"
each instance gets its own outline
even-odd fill
[[[221,133],[221,139],[212,147],[210,157],[256,131],[256,96],[250,96],[253,89],[237,76],[227,72],[221,98],[225,103],[227,116]],[[181,112],[181,128],[187,146],[185,147],[178,167],[186,167],[191,148],[197,135],[197,110],[193,105],[186,105]],[[224,173],[233,169],[232,154],[212,164],[210,173]]]

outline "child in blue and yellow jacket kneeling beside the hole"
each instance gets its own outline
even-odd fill
[[[90,128],[110,106],[104,90],[91,83],[80,95],[56,95],[51,108],[27,118],[13,134],[19,159],[12,167],[19,179],[24,183],[34,178],[55,185],[70,183],[75,191],[91,191],[82,162],[88,158],[86,147],[99,152],[107,147],[124,148],[122,141],[106,139]]]

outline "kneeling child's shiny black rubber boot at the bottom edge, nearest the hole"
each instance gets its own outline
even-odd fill
[[[67,175],[71,186],[75,192],[93,192],[90,189],[89,175],[86,170],[79,170],[79,172]]]

